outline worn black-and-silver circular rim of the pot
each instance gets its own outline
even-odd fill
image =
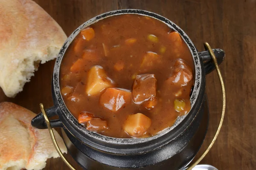
[[[195,64],[195,85],[194,85],[192,95],[190,97],[190,102],[191,102],[191,110],[190,111],[192,111],[193,106],[195,105],[196,99],[198,98],[198,95],[199,95],[199,91],[201,88],[201,79],[202,79],[201,63],[200,63],[200,59],[198,57],[198,52],[197,52],[194,44],[192,43],[192,41],[189,39],[189,37],[186,35],[186,33],[182,29],[180,29],[180,27],[178,27],[175,23],[168,20],[167,18],[162,17],[159,14],[149,12],[149,11],[138,10],[138,9],[123,9],[123,10],[110,11],[110,12],[107,12],[104,14],[100,14],[100,15],[88,20],[87,22],[83,23],[81,26],[79,26],[79,28],[77,28],[75,31],[73,31],[73,33],[67,38],[67,40],[64,42],[63,46],[61,47],[61,50],[58,53],[58,57],[55,61],[52,81],[53,81],[53,88],[54,88],[54,93],[55,93],[55,96],[56,96],[56,99],[58,102],[58,106],[61,109],[61,114],[63,114],[63,116],[66,117],[67,120],[76,127],[76,130],[80,130],[82,133],[84,133],[84,135],[90,136],[90,137],[97,139],[99,141],[102,141],[102,142],[108,142],[108,143],[112,143],[112,144],[139,144],[139,143],[151,141],[153,139],[157,139],[160,136],[163,136],[166,133],[169,133],[177,125],[179,125],[180,122],[183,121],[183,119],[185,119],[185,117],[190,113],[190,111],[189,111],[189,113],[187,113],[184,116],[179,116],[177,118],[177,120],[175,121],[175,123],[171,127],[168,127],[165,130],[162,130],[155,136],[151,136],[148,138],[131,138],[131,139],[113,138],[113,137],[104,136],[104,135],[86,130],[86,128],[83,125],[79,124],[77,119],[67,109],[67,107],[64,103],[64,100],[62,99],[61,92],[60,92],[59,72],[60,72],[61,61],[64,57],[64,54],[65,54],[67,48],[69,47],[70,43],[74,40],[76,35],[78,35],[82,29],[86,28],[87,26],[92,25],[93,23],[98,22],[99,20],[105,19],[107,17],[112,17],[115,15],[121,15],[121,14],[138,14],[138,15],[152,17],[156,20],[160,20],[161,22],[165,23],[167,26],[169,26],[173,30],[177,31],[180,34],[180,36],[183,38],[183,40],[186,42],[186,44],[189,47],[189,50],[192,54],[192,57],[194,59],[194,64]],[[60,113],[58,113],[58,114],[60,114]]]

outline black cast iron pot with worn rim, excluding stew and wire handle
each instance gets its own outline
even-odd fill
[[[191,111],[184,116],[180,116],[172,127],[149,138],[119,139],[86,130],[68,111],[60,93],[59,71],[61,60],[76,35],[85,27],[99,20],[120,14],[139,14],[162,21],[181,35],[194,59],[195,86],[190,98]],[[213,51],[218,64],[220,64],[225,56],[224,51],[221,49],[214,49]],[[47,115],[49,117],[56,114],[59,116],[59,119],[51,120],[50,123],[52,127],[62,127],[63,139],[69,153],[84,169],[183,169],[192,161],[207,133],[209,111],[205,94],[205,75],[214,68],[208,51],[198,52],[184,31],[165,17],[135,9],[110,11],[82,24],[62,46],[55,62],[52,77],[54,106],[47,109]],[[47,128],[42,113],[32,119],[31,123],[34,127],[40,129]]]

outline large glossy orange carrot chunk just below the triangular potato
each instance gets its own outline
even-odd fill
[[[107,88],[101,95],[99,102],[111,111],[118,111],[131,102],[131,91],[121,88]]]

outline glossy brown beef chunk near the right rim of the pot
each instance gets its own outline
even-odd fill
[[[176,59],[174,64],[174,72],[172,77],[169,77],[166,81],[171,84],[184,86],[192,80],[192,69],[183,59]]]

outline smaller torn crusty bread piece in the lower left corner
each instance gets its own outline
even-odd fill
[[[41,170],[48,158],[58,157],[48,129],[30,124],[35,113],[11,102],[0,103],[0,170]],[[67,148],[54,130],[62,153]]]

